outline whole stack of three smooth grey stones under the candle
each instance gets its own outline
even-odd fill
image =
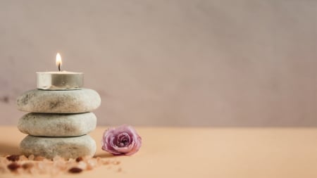
[[[20,118],[18,129],[28,134],[20,143],[24,155],[54,158],[93,156],[96,142],[87,135],[97,125],[92,110],[101,98],[92,89],[27,91],[17,99]]]

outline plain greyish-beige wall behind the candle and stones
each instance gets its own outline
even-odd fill
[[[0,1],[0,124],[85,72],[99,125],[317,126],[317,1]]]

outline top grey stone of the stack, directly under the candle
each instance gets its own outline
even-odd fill
[[[92,89],[34,89],[17,99],[18,109],[31,113],[86,113],[97,109],[100,103],[99,94]]]

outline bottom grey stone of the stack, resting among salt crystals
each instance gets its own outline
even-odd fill
[[[75,137],[26,136],[20,143],[24,155],[41,155],[45,158],[78,158],[85,155],[94,156],[96,142],[89,135]]]

